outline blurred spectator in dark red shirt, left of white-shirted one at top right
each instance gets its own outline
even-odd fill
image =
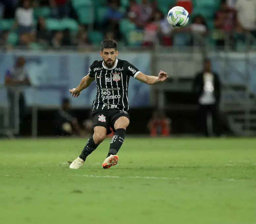
[[[234,27],[235,11],[228,7],[226,0],[222,0],[220,10],[214,15],[214,37],[217,46],[225,45],[225,40],[231,38]]]

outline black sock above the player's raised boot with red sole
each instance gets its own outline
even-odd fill
[[[121,146],[124,142],[125,132],[126,132],[126,130],[123,128],[116,129],[115,135],[113,136],[111,143],[110,143],[107,157],[110,155],[117,154],[117,152],[119,151],[119,149],[121,148]]]

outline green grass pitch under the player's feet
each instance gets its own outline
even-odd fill
[[[0,141],[0,223],[255,224],[256,139],[110,139],[70,170],[87,140]]]

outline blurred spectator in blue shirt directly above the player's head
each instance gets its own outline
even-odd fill
[[[121,40],[121,33],[119,29],[119,22],[123,18],[123,14],[119,11],[118,2],[113,0],[107,10],[106,22],[104,23],[104,30],[112,31],[116,40]]]

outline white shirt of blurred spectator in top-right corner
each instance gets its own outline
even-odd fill
[[[256,0],[237,0],[237,19],[247,30],[256,30]]]

